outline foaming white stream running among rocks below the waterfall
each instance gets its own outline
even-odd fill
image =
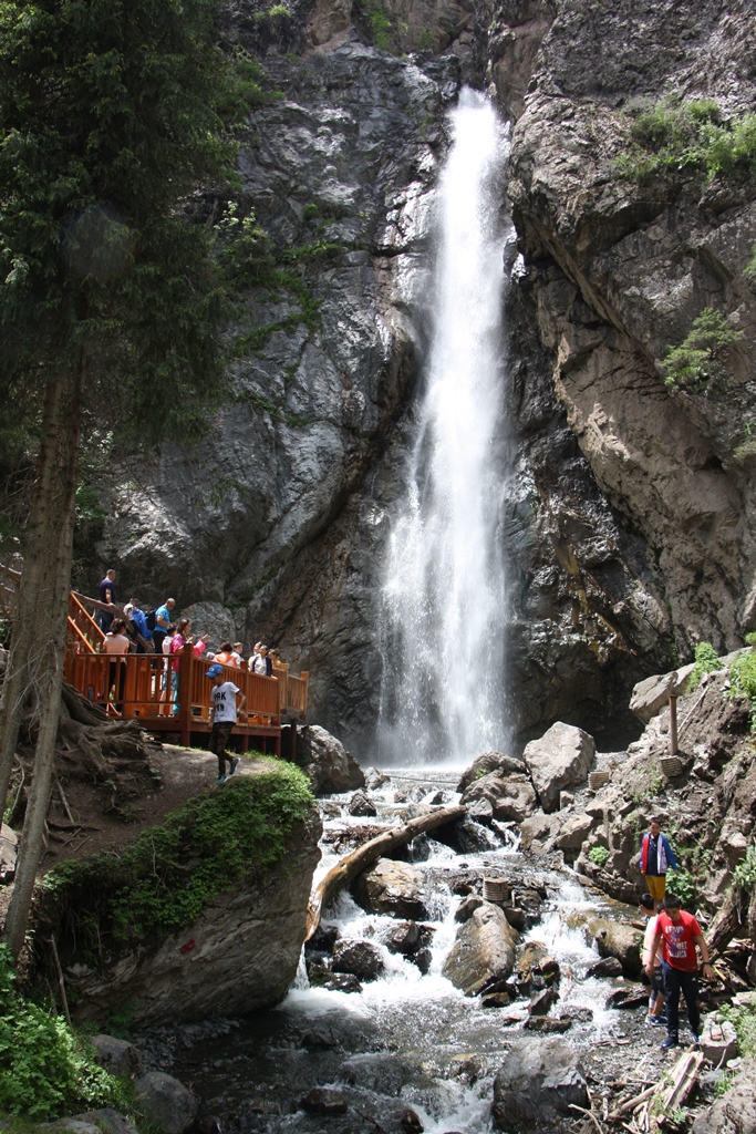
[[[349,794],[321,801],[324,853],[315,882],[337,861],[334,844],[341,853],[351,849],[349,832],[355,828],[362,829],[364,841],[366,827],[406,822],[430,802],[458,801],[458,772],[391,769],[390,776],[369,793],[375,818],[350,815]],[[516,828],[502,826],[493,832],[468,820],[466,830],[479,843],[478,849],[460,853],[421,836],[405,855],[422,871],[428,895],[431,916],[423,924],[431,925],[433,934],[423,964],[426,972],[387,948],[394,919],[366,913],[349,894],[341,894],[324,911],[325,936],[335,930],[342,939],[367,939],[384,962],[383,973],[363,981],[362,991],[311,987],[305,956],[316,955],[308,947],[297,980],[278,1007],[209,1027],[162,1030],[162,1040],[151,1036],[153,1051],[161,1042],[164,1051],[170,1049],[172,1066],[167,1069],[201,1098],[203,1114],[212,1120],[209,1129],[398,1134],[419,1128],[407,1117],[411,1108],[426,1134],[492,1131],[493,1077],[508,1043],[521,1038],[529,993],[507,1007],[485,1008],[481,998],[465,997],[441,972],[459,928],[455,921],[464,900],[459,891],[479,886],[484,875],[508,878],[519,895],[528,923],[518,957],[528,942],[540,941],[559,962],[559,999],[550,1015],[572,1017],[568,1042],[585,1053],[588,1065],[600,1058],[595,1052],[602,1046],[609,1053],[613,1044],[630,1042],[625,1038],[629,1017],[642,1022],[645,1013],[604,1007],[612,989],[625,984],[622,978],[586,978],[598,957],[586,945],[580,923],[587,914],[611,909],[609,900],[584,889],[558,863],[541,868],[526,861]],[[534,1041],[538,1038],[533,1034]],[[338,1092],[346,1099],[346,1114],[307,1114],[301,1100],[314,1088]]]

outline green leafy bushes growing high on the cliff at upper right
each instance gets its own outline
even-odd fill
[[[716,102],[668,99],[639,113],[630,125],[620,171],[635,181],[656,177],[756,176],[756,113],[724,120]]]

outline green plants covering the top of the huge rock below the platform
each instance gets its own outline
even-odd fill
[[[313,795],[294,764],[269,767],[189,799],[127,846],[53,868],[35,905],[37,932],[54,930],[96,964],[126,942],[163,940],[237,879],[270,870]]]

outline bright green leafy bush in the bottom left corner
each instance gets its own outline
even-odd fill
[[[124,1085],[60,1016],[24,1000],[0,945],[0,1114],[42,1122],[68,1110],[127,1107]]]

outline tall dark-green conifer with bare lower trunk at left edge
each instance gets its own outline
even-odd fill
[[[151,443],[222,388],[212,230],[238,110],[216,0],[0,0],[2,431],[35,463],[0,708],[0,813],[29,700],[34,778],[5,936],[24,940],[60,711],[82,418]]]

